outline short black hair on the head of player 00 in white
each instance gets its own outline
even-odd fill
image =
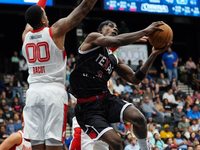
[[[25,12],[25,21],[32,27],[39,24],[43,16],[43,11],[39,5],[29,7]]]

